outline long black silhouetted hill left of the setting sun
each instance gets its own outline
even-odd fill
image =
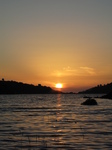
[[[0,94],[54,94],[62,93],[47,86],[34,86],[16,81],[0,81]]]

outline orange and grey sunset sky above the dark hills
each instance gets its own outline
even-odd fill
[[[0,0],[0,78],[77,92],[112,82],[112,0]]]

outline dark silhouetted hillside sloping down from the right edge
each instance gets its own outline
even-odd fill
[[[96,87],[79,92],[80,94],[107,94],[112,91],[112,82],[106,85],[97,85]]]

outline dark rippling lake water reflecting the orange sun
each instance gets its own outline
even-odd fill
[[[110,150],[112,100],[82,95],[0,95],[0,150]]]

